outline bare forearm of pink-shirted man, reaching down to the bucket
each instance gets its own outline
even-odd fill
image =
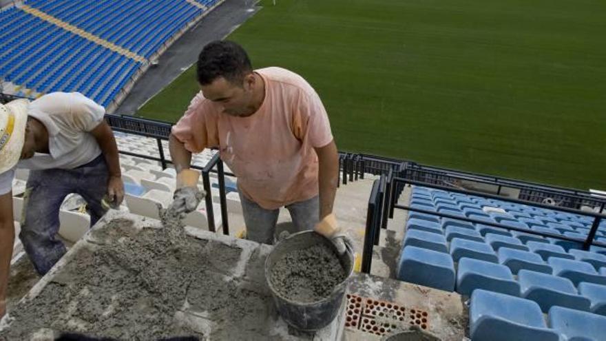
[[[324,147],[315,148],[319,163],[318,182],[320,186],[320,220],[333,213],[337,183],[339,182],[339,154],[335,141]]]

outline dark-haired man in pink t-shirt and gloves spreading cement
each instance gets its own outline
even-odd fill
[[[244,49],[213,41],[200,52],[200,92],[172,127],[170,153],[178,173],[171,209],[198,207],[191,153],[218,147],[238,177],[247,238],[273,244],[280,207],[299,231],[315,229],[339,252],[348,238],[337,225],[333,203],[339,156],[320,96],[301,76],[283,68],[253,70]],[[191,177],[189,177],[191,178]]]

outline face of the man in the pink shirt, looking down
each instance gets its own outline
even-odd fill
[[[218,77],[212,83],[200,85],[205,98],[217,103],[224,114],[231,116],[249,116],[254,114],[252,107],[253,99],[253,74],[244,77],[242,84],[232,83]]]

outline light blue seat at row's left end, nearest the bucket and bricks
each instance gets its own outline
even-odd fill
[[[449,254],[420,247],[404,247],[397,278],[404,282],[453,291],[454,262]]]

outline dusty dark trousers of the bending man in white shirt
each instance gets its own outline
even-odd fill
[[[32,170],[25,185],[19,238],[40,275],[47,273],[65,254],[57,238],[59,209],[70,193],[86,200],[91,226],[107,211],[101,205],[109,173],[103,154],[75,169]]]

